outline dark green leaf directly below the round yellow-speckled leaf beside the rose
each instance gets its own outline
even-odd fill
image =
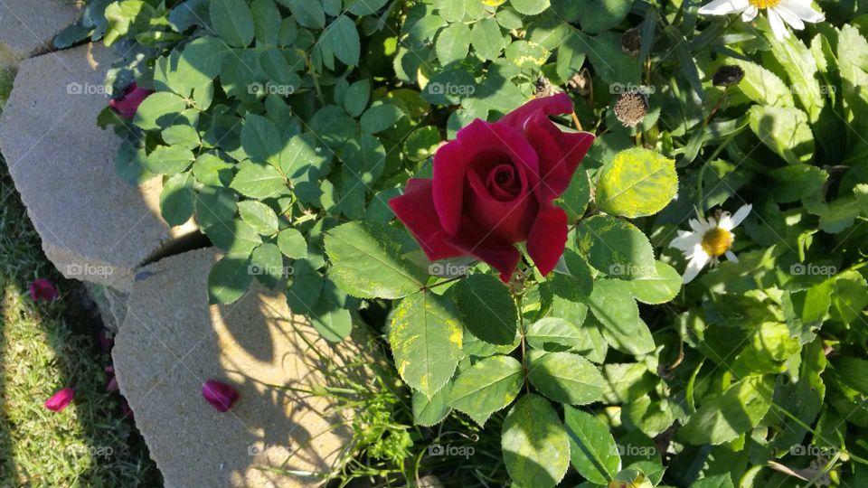
[[[576,228],[576,247],[590,266],[611,277],[636,279],[656,276],[654,249],[633,224],[598,215]]]

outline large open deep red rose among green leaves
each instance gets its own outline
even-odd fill
[[[549,116],[572,112],[561,93],[533,99],[498,122],[476,119],[434,155],[433,179],[413,178],[389,202],[431,260],[474,256],[507,282],[521,253],[543,275],[567,242],[567,214],[554,199],[594,142],[590,133],[562,132]]]

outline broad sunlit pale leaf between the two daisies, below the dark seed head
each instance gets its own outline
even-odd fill
[[[814,133],[798,108],[750,107],[750,130],[789,164],[807,163],[814,156]]]

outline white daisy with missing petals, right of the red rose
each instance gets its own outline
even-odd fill
[[[685,284],[690,283],[708,263],[717,266],[718,258],[723,255],[731,261],[739,262],[735,253],[730,250],[735,242],[732,230],[744,221],[752,208],[752,205],[744,205],[734,215],[730,215],[728,211],[719,211],[707,221],[697,212],[697,218],[690,220],[693,231],[678,231],[678,237],[672,239],[669,245],[680,249],[684,252],[684,257],[689,259],[687,268],[684,269]]]

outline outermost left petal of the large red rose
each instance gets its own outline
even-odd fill
[[[431,186],[430,180],[413,178],[407,183],[404,194],[390,200],[389,206],[398,220],[410,229],[430,260],[462,256],[461,251],[445,240],[446,230],[443,230],[434,210]]]

